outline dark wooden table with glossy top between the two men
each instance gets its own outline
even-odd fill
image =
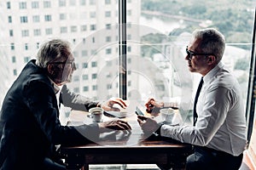
[[[73,125],[87,123],[84,113],[72,113]],[[84,122],[79,122],[82,119]],[[89,169],[89,164],[157,164],[172,169],[184,169],[190,144],[156,135],[146,136],[137,123],[137,116],[127,116],[131,132],[102,133],[94,144],[61,147],[67,169]],[[89,121],[90,122],[90,121]],[[166,169],[166,168],[163,168]]]

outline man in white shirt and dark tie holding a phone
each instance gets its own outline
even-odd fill
[[[144,133],[177,139],[194,145],[186,169],[239,169],[247,144],[246,118],[241,90],[221,62],[224,36],[216,29],[195,30],[186,49],[189,71],[200,73],[202,88],[195,104],[195,126],[159,125],[151,118],[138,116]],[[197,98],[197,97],[196,97]],[[155,105],[154,99],[149,104]],[[158,105],[155,105],[158,106]],[[150,120],[148,120],[150,119]]]

